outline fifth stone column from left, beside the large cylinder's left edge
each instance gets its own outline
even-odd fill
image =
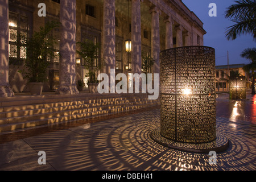
[[[153,73],[159,73],[160,33],[159,9],[151,7],[151,56],[155,60]]]

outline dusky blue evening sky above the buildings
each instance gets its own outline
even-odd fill
[[[213,47],[216,51],[216,65],[228,64],[249,64],[250,61],[243,59],[240,54],[245,48],[255,47],[256,42],[253,41],[253,36],[242,35],[236,40],[228,40],[225,37],[226,28],[234,23],[226,19],[224,14],[226,8],[235,4],[233,0],[182,0],[183,3],[193,11],[197,17],[204,23],[204,30],[207,34],[204,35],[204,46]],[[217,16],[210,17],[208,15],[209,4],[216,3]]]

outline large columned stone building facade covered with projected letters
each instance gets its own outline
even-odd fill
[[[95,67],[104,60],[101,73],[141,73],[142,56],[155,61],[150,72],[159,73],[159,52],[181,46],[203,46],[203,23],[181,0],[46,0],[46,16],[39,16],[39,0],[1,0],[1,80],[0,95],[26,92],[27,81],[19,73],[26,48],[17,38],[29,38],[48,21],[60,22],[52,31],[57,40],[54,59],[48,67],[44,91],[78,93],[77,81],[88,80],[85,61],[76,50],[86,39],[99,43]],[[126,51],[126,41],[131,51]],[[24,45],[26,46],[26,45]],[[61,56],[59,56],[61,55]],[[99,72],[99,73],[100,73]]]

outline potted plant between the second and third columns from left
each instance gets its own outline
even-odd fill
[[[102,67],[102,63],[97,65],[97,52],[100,48],[99,43],[94,43],[91,40],[86,39],[85,42],[78,42],[80,44],[80,51],[77,51],[79,55],[84,59],[85,68],[88,70],[88,88],[90,93],[97,92],[98,80],[96,73]]]

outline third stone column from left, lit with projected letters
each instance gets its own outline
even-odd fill
[[[109,75],[115,69],[115,1],[104,0],[103,7],[103,59],[105,66],[102,72]],[[114,80],[113,80],[114,81]]]

